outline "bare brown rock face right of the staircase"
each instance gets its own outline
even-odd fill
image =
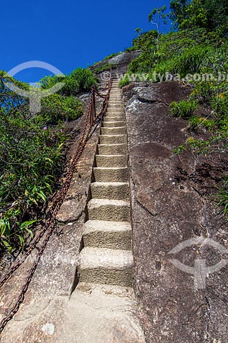
[[[203,196],[214,182],[202,158],[175,156],[186,141],[186,122],[168,112],[172,101],[188,95],[176,82],[140,82],[124,89],[131,174],[135,288],[148,343],[222,343],[227,340],[227,272],[210,274],[205,289],[194,276],[170,263],[178,259],[194,267],[196,259],[214,265],[222,259],[208,245],[168,252],[192,237],[210,237],[227,248],[224,218]],[[199,171],[207,171],[200,178]],[[197,181],[198,180],[198,181]],[[210,180],[210,182],[208,182]]]

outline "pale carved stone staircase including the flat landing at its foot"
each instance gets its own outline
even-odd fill
[[[144,343],[132,287],[127,127],[117,80],[100,130],[77,285],[60,342]]]

